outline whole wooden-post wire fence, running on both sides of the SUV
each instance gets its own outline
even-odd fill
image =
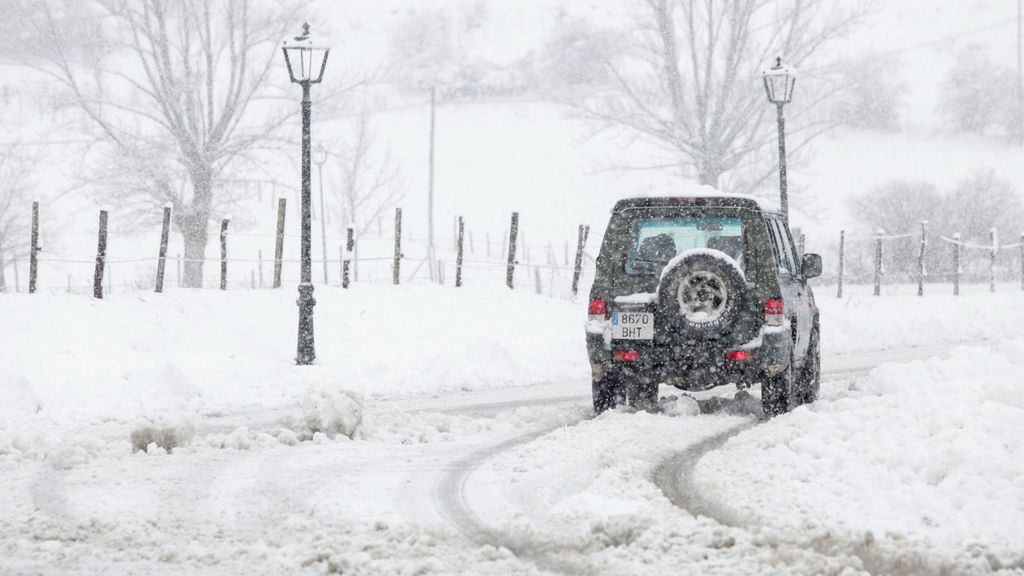
[[[365,232],[361,237],[355,238],[353,233],[351,242],[349,234],[321,231],[311,238],[311,280],[314,284],[344,287],[410,283],[504,286],[574,298],[595,272],[596,250],[589,243],[589,228],[579,227],[574,239],[528,243],[518,229],[517,217],[514,214],[509,228],[501,233],[486,232],[475,239],[473,231],[466,230],[458,219],[451,236],[441,235],[432,243],[425,237],[402,236],[400,210],[396,210],[394,228],[385,230],[378,223],[376,231]],[[111,294],[156,290],[161,282],[158,271],[162,261],[167,269],[163,283],[167,287],[190,284],[186,269],[194,264],[202,269],[203,288],[255,290],[301,281],[301,236],[286,234],[280,225],[273,234],[234,233],[225,220],[221,229],[224,234],[213,231],[208,247],[216,250],[219,244],[220,254],[182,256],[183,246],[174,247],[171,253],[165,240],[161,247],[163,258],[158,250],[141,253],[148,250],[139,245],[135,236],[108,239],[105,228],[100,234],[50,233],[45,236],[47,244],[58,249],[44,249],[39,245],[35,205],[32,230],[27,251],[4,259],[0,250],[0,291]],[[794,232],[798,251],[803,253],[807,239],[799,231]],[[81,250],[83,242],[92,239],[103,244],[102,253]],[[965,241],[959,234],[930,231],[928,223],[922,222],[920,230],[898,234],[878,231],[847,235],[841,231],[835,240],[812,239],[808,251],[836,255],[834,261],[826,260],[824,274],[813,283],[835,286],[840,297],[844,285],[872,286],[876,295],[891,292],[886,287],[901,284],[918,284],[921,295],[926,287],[931,292],[939,284],[948,284],[953,294],[958,294],[965,284],[987,284],[994,291],[997,284],[1008,281],[1019,281],[1024,290],[1024,234],[1016,242],[1000,243],[997,231],[992,229],[987,243],[977,238]],[[60,248],[67,246],[76,248]]]

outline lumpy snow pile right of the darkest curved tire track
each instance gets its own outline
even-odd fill
[[[731,440],[697,485],[769,526],[885,533],[948,562],[1024,567],[1022,373],[1024,339],[883,365]]]

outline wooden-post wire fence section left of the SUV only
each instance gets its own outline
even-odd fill
[[[195,286],[196,277],[191,281],[188,278],[189,265],[202,271],[199,276],[203,288],[268,289],[298,284],[302,278],[301,235],[286,234],[280,228],[274,234],[233,233],[224,220],[220,229],[224,233],[210,233],[207,247],[216,250],[219,245],[220,253],[211,257],[207,250],[202,257],[196,257],[182,255],[183,244],[168,247],[169,218],[165,218],[160,250],[142,255],[139,251],[144,247],[140,247],[137,236],[108,236],[104,216],[96,234],[46,235],[46,244],[57,249],[44,249],[39,245],[35,205],[33,214],[33,240],[27,254],[4,260],[0,251],[0,291],[67,292],[99,297],[115,292],[160,291],[158,286],[160,289]],[[476,242],[471,231],[467,234],[463,230],[461,235],[439,237],[430,243],[422,237],[402,237],[400,210],[396,210],[396,217],[399,220],[394,229],[385,231],[378,227],[376,235],[369,232],[361,238],[355,238],[353,233],[351,243],[349,234],[313,234],[308,258],[312,283],[343,287],[410,283],[493,285],[571,298],[581,281],[586,283],[593,275],[594,257],[583,236],[585,229],[589,231],[586,227],[580,227],[573,245],[565,240],[556,249],[553,242],[525,242],[521,231],[514,230],[515,219],[511,234],[510,230],[502,234],[485,233]],[[89,236],[102,245],[101,251],[82,251],[81,246],[90,240]],[[163,273],[162,265],[166,269]]]

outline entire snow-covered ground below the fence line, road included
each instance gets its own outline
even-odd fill
[[[742,526],[653,475],[756,410],[592,419],[581,304],[316,297],[307,368],[291,289],[0,299],[0,572],[1022,569],[1017,292],[819,295],[823,399],[695,468]]]

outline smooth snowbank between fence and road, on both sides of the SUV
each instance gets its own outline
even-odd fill
[[[586,394],[583,302],[422,285],[317,287],[315,296],[317,364],[299,368],[291,288],[113,300],[4,294],[0,436],[84,425],[102,435],[168,415],[187,416],[198,434],[206,420],[232,416],[236,427],[260,429],[283,414],[304,417],[303,400],[316,389],[376,401],[579,380]],[[1007,336],[1024,322],[1017,292],[819,294],[818,303],[826,363],[847,352]]]

